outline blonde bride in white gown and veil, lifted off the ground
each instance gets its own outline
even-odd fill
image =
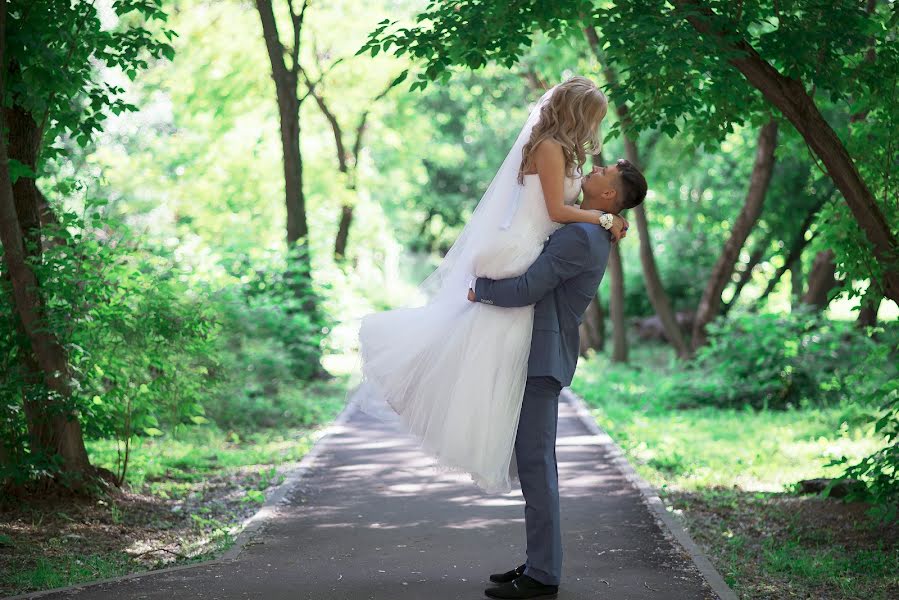
[[[612,226],[601,211],[575,203],[607,110],[605,95],[584,77],[546,92],[459,238],[421,284],[427,303],[362,319],[362,383],[351,395],[372,414],[386,402],[438,468],[468,473],[488,493],[508,492],[518,479],[513,449],[534,307],[469,302],[468,283],[521,275],[565,223],[601,223],[618,236],[620,219]]]

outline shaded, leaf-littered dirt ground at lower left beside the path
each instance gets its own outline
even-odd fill
[[[177,498],[144,489],[0,505],[0,596],[212,558],[258,510],[247,490],[278,481],[244,469],[192,482]]]

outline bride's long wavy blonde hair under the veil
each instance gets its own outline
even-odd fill
[[[608,109],[606,95],[586,77],[575,76],[560,83],[540,109],[540,120],[521,151],[518,183],[524,181],[524,166],[534,149],[545,139],[561,144],[566,175],[573,175],[575,167],[582,167],[587,162],[587,154],[599,154],[602,149],[599,124]]]

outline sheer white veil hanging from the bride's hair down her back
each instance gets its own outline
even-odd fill
[[[512,222],[523,186],[518,183],[518,171],[521,167],[522,150],[531,137],[531,131],[540,120],[543,107],[549,101],[555,87],[541,96],[531,109],[530,115],[521,128],[512,149],[506,155],[502,165],[494,175],[490,186],[477,207],[456,238],[449,252],[440,265],[418,286],[418,296],[425,297],[425,305],[433,304],[467,304],[465,293],[468,282],[474,275],[474,261],[478,254],[495,240],[497,230],[507,228]],[[361,343],[361,339],[360,339]],[[390,342],[392,343],[392,342]],[[360,360],[357,372],[362,367],[364,348],[360,347]],[[359,408],[382,421],[398,419],[398,415],[389,407],[382,393],[375,388],[374,382],[365,379],[360,385],[347,392],[347,399],[358,403]]]

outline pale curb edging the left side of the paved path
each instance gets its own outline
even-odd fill
[[[331,423],[325,427],[321,436],[315,443],[312,445],[312,448],[309,449],[309,452],[303,455],[303,458],[300,459],[298,463],[295,463],[292,467],[290,467],[287,476],[284,478],[284,481],[281,482],[269,496],[266,498],[265,502],[262,506],[259,507],[259,510],[256,511],[252,516],[244,519],[240,533],[237,534],[237,538],[234,540],[234,545],[231,546],[224,554],[219,556],[218,558],[213,558],[211,560],[204,560],[196,563],[191,563],[187,565],[177,565],[174,567],[166,567],[164,569],[154,569],[152,571],[141,571],[140,573],[130,573],[128,575],[121,575],[119,577],[110,577],[108,579],[98,579],[97,581],[86,581],[84,583],[76,583],[74,585],[69,585],[66,587],[60,588],[52,588],[49,590],[41,590],[39,592],[27,592],[25,594],[19,594],[18,596],[4,596],[0,598],[0,600],[31,600],[33,598],[42,598],[44,596],[49,596],[51,594],[64,594],[67,592],[80,591],[87,588],[92,587],[100,587],[104,585],[108,585],[111,583],[118,583],[120,581],[129,581],[131,579],[141,579],[143,577],[154,577],[156,575],[163,575],[167,573],[174,573],[176,571],[184,571],[187,569],[196,569],[199,567],[209,567],[218,563],[229,563],[233,562],[236,559],[241,551],[247,546],[247,544],[252,541],[267,525],[272,517],[275,516],[278,507],[284,502],[287,498],[287,495],[293,491],[293,489],[300,483],[300,481],[305,478],[306,474],[309,472],[309,469],[314,465],[316,459],[322,452],[322,448],[326,445],[325,442],[333,436],[334,433],[339,431],[343,424],[352,416],[352,414],[356,411],[356,408],[359,405],[359,401],[354,397],[343,407],[343,410],[337,415]]]

